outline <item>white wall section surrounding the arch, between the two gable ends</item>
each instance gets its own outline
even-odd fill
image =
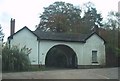
[[[70,48],[74,50],[78,58],[78,64],[81,64],[82,62],[82,45],[81,43],[78,42],[61,42],[61,41],[45,41],[41,40],[40,41],[40,63],[42,65],[45,65],[45,58],[46,54],[49,51],[50,48],[52,48],[55,45],[67,45]]]

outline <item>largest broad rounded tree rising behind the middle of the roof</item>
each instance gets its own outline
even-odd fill
[[[55,2],[44,8],[43,14],[40,16],[39,28],[42,31],[53,32],[74,32],[73,27],[81,19],[81,10],[73,4],[65,2]]]

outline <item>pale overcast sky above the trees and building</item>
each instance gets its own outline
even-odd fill
[[[10,19],[15,19],[15,32],[27,26],[34,31],[40,22],[40,14],[43,7],[48,7],[55,1],[72,3],[74,6],[82,6],[86,2],[95,4],[98,13],[106,18],[108,12],[118,11],[120,0],[0,0],[0,24],[5,34],[4,41],[10,36]]]

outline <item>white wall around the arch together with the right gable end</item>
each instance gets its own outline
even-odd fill
[[[61,42],[61,41],[40,41],[40,63],[45,65],[45,58],[47,52],[55,45],[67,45],[74,50],[77,55],[78,65],[93,65],[92,50],[98,53],[98,65],[105,64],[105,45],[104,41],[98,36],[91,36],[86,43],[80,42]]]

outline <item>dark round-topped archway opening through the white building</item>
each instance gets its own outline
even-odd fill
[[[45,66],[57,68],[77,68],[76,53],[67,45],[53,46],[46,55]]]

